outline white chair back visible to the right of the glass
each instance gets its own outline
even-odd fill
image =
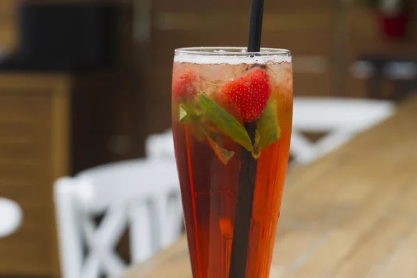
[[[311,163],[394,111],[391,101],[295,97],[291,154],[297,163]],[[327,133],[318,142],[311,142],[303,131]]]

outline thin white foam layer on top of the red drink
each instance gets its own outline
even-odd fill
[[[268,51],[264,51],[261,56],[232,56],[232,55],[221,55],[222,53],[227,54],[227,51],[213,51],[213,54],[219,55],[197,55],[188,53],[178,53],[174,57],[175,63],[192,63],[199,65],[252,65],[252,64],[268,64],[268,63],[291,63],[291,56],[279,55],[271,53],[268,55]],[[243,52],[245,53],[245,52]]]

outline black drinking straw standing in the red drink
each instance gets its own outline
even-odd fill
[[[262,18],[263,0],[252,0],[247,52],[261,51]],[[256,54],[250,55],[254,56]],[[254,143],[256,122],[245,122],[245,129],[252,143]],[[239,172],[238,201],[231,243],[229,278],[245,278],[256,167],[256,159],[251,152],[243,147]]]

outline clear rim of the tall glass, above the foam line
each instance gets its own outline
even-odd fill
[[[175,49],[175,54],[201,56],[241,56],[256,54],[256,56],[286,56],[291,57],[288,49],[261,47],[259,52],[247,52],[247,47],[181,47]]]

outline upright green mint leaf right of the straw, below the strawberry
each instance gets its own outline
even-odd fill
[[[277,119],[277,104],[270,99],[266,104],[261,117],[258,120],[258,129],[260,141],[259,151],[265,149],[273,142],[277,142],[281,137],[281,129]]]

